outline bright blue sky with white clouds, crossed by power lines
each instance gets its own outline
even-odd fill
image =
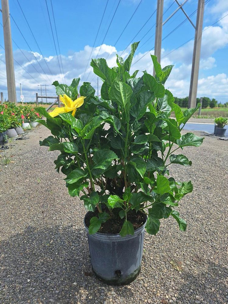
[[[183,1],[184,0],[181,0],[180,2],[182,3]],[[140,0],[121,0],[107,36],[105,37],[104,43],[101,46],[118,2],[119,0],[109,0],[100,31],[95,42],[95,48],[92,52],[92,57],[97,56],[99,49],[100,51],[98,57],[106,58],[109,56],[107,62],[111,67],[115,65],[116,53],[121,54],[122,51],[125,50],[127,45],[157,7],[157,1],[155,0],[142,0],[141,3]],[[60,68],[58,66],[46,2],[45,0],[37,0],[35,3],[34,1],[23,0],[19,1],[19,3],[45,59],[43,59],[40,54],[39,48],[37,47],[36,42],[26,24],[17,0],[9,0],[10,13],[12,18],[16,21],[17,26],[21,30],[23,36],[27,40],[29,47],[34,52],[36,59],[39,61],[47,75],[43,73],[39,64],[35,60],[33,53],[29,50],[27,43],[20,34],[15,22],[11,18],[12,38],[15,40],[16,44],[23,51],[30,62],[28,62],[28,60],[13,42],[14,58],[26,71],[29,72],[30,75],[33,76],[33,78],[35,78],[35,80],[31,78],[31,76],[27,74],[21,66],[15,63],[17,96],[19,98],[19,83],[22,83],[23,94],[25,95],[26,101],[34,100],[38,84],[49,85],[48,94],[55,95],[54,88],[51,87],[52,81],[64,81],[62,80],[63,75],[60,74]],[[107,0],[65,0],[64,2],[60,0],[52,0],[58,40],[60,43],[61,59],[63,62],[64,78],[67,84],[70,84],[72,78],[80,76],[82,81],[86,81],[87,79],[87,81],[92,82],[92,85],[97,88],[97,78],[94,77],[93,72],[90,73],[90,65],[88,65],[87,69],[86,66],[106,3]],[[47,0],[47,4],[57,46],[50,0]],[[197,4],[197,0],[188,0],[185,3],[184,9],[188,15],[192,14],[197,9]],[[169,8],[170,5],[171,7]],[[138,9],[136,10],[132,20],[126,27],[119,41],[116,43],[120,33],[123,31],[137,6]],[[178,5],[173,0],[164,0],[164,12],[168,8],[169,9],[166,13],[164,13],[163,20],[167,19],[177,7]],[[198,86],[198,97],[208,96],[210,98],[216,98],[218,101],[223,103],[228,101],[228,16],[223,18],[214,26],[208,29],[207,27],[226,14],[228,14],[228,1],[210,0],[205,5],[203,28],[206,30],[203,32],[202,36],[202,51]],[[191,19],[195,23],[196,13],[191,17]],[[141,40],[147,31],[155,24],[155,20],[156,12],[147,22],[146,26],[144,26],[141,32],[136,36],[134,41]],[[185,16],[181,10],[179,10],[163,26],[162,37],[165,38],[184,20]],[[2,27],[0,26],[0,28]],[[133,63],[154,47],[154,34],[155,26],[141,40],[141,46],[139,45],[138,50],[136,51]],[[174,31],[174,33],[171,33],[170,36],[162,41],[162,57],[192,37],[194,37],[194,28],[187,20],[182,26]],[[4,46],[3,30],[0,31],[0,44]],[[130,47],[124,51],[123,57],[127,56],[129,50]],[[162,66],[167,64],[175,65],[170,76],[170,80],[167,81],[166,85],[175,96],[185,97],[188,95],[192,64],[192,50],[193,40],[161,60]],[[151,51],[151,54],[153,54],[153,51]],[[0,48],[0,59],[5,61],[5,54],[2,48]],[[50,74],[44,60],[46,60],[53,75]],[[34,69],[34,67],[39,73]],[[4,93],[4,97],[7,98],[5,64],[2,61],[0,61],[0,68],[0,90]],[[136,69],[143,71],[145,68],[147,68],[148,72],[152,72],[150,52],[133,65],[132,72]],[[101,85],[102,82],[99,80],[99,88]]]

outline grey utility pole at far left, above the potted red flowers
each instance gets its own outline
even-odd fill
[[[5,65],[6,65],[8,100],[10,102],[16,103],[17,98],[16,98],[16,86],[15,86],[15,75],[14,75],[14,65],[13,65],[13,50],[12,50],[8,0],[2,0],[2,23],[3,23],[3,33],[4,33],[4,43],[5,43]]]

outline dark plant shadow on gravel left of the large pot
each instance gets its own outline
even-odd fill
[[[96,300],[103,303],[105,300],[102,287],[107,285],[92,272],[83,229],[30,226],[22,234],[2,241],[0,256],[0,303],[95,303]],[[122,292],[132,295],[127,286],[122,287]]]

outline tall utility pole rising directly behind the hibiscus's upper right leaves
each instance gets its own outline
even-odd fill
[[[161,62],[161,35],[162,35],[162,20],[163,20],[163,3],[164,0],[157,0],[157,18],[155,32],[154,55],[157,56],[157,61]],[[155,76],[155,70],[153,71]]]

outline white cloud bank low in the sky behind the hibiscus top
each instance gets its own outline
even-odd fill
[[[224,12],[220,15],[225,16],[228,12]],[[203,32],[202,36],[202,49],[201,49],[201,61],[200,61],[200,70],[208,72],[213,67],[216,67],[216,57],[212,56],[216,50],[227,47],[228,45],[228,17],[220,20],[216,26],[212,26],[206,29]],[[189,84],[190,84],[190,75],[191,75],[191,66],[192,66],[192,50],[193,50],[194,41],[191,40],[183,47],[178,50],[173,51],[167,57],[162,58],[161,65],[166,66],[168,64],[174,64],[173,71],[170,75],[166,83],[166,87],[169,88],[171,92],[175,96],[184,97],[189,93]],[[178,47],[177,46],[174,46]],[[39,53],[34,53],[40,65],[43,67],[43,70],[48,75],[43,73],[39,64],[33,56],[33,53],[22,50],[24,55],[29,59],[30,62],[26,59],[26,57],[20,52],[20,50],[14,51],[14,58],[16,61],[24,68],[26,71],[33,76],[36,80],[34,80],[29,74],[27,74],[23,68],[17,64],[15,65],[15,78],[16,78],[16,89],[17,89],[17,97],[19,100],[20,90],[19,84],[22,84],[23,94],[25,95],[25,100],[35,100],[36,92],[38,92],[38,84],[47,84],[49,85],[48,95],[55,95],[55,88],[51,86],[52,82],[58,80],[59,82],[67,83],[68,85],[71,83],[73,78],[80,77],[81,83],[82,81],[92,82],[92,86],[97,89],[97,76],[93,74],[93,71],[90,66],[90,61],[88,67],[86,69],[92,47],[86,45],[83,50],[78,52],[71,52],[68,55],[62,55],[62,63],[64,67],[64,76],[65,80],[62,80],[62,75],[60,73],[60,68],[58,64],[58,58],[53,54],[50,54],[49,57],[43,58]],[[162,49],[162,56],[167,54],[170,50]],[[99,54],[98,54],[99,52]],[[126,58],[130,52],[130,47],[124,51],[122,54],[123,58]],[[116,53],[117,50],[112,45],[103,44],[102,46],[95,47],[92,52],[92,58],[95,58],[98,54],[98,58],[106,58],[109,66],[116,65]],[[122,51],[118,51],[118,54],[121,54]],[[150,57],[150,52],[148,54],[139,53],[136,54],[133,59],[133,64],[131,68],[131,73],[133,71],[139,69],[139,76],[142,74],[142,70],[147,69],[147,72],[153,73],[153,65]],[[153,51],[151,52],[153,54]],[[144,57],[137,62],[142,56]],[[0,53],[0,59],[5,61],[5,54]],[[50,71],[47,67],[47,64],[53,75],[50,74]],[[59,58],[60,61],[60,58]],[[61,63],[60,63],[61,64]],[[37,71],[39,72],[37,73]],[[225,66],[224,66],[225,68]],[[86,69],[86,71],[85,71]],[[6,77],[5,75],[5,64],[0,60],[0,90],[4,93],[4,97],[7,98],[7,89],[6,89]],[[224,70],[226,72],[226,70]],[[85,75],[84,75],[85,72]],[[83,77],[84,76],[84,77]],[[87,79],[88,78],[88,79]],[[224,73],[219,73],[217,75],[212,75],[209,77],[203,77],[199,79],[198,85],[198,96],[209,96],[217,98],[219,101],[226,102],[228,100],[228,92],[227,92],[227,75]],[[99,91],[102,85],[102,81],[99,79]]]

